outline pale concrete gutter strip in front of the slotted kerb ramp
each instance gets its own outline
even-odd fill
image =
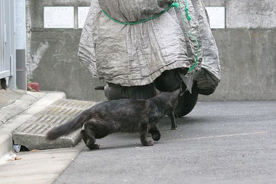
[[[20,160],[7,161],[0,165],[1,184],[50,184],[74,161],[85,145],[74,148],[61,148],[20,152]]]

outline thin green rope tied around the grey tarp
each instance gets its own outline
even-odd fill
[[[185,0],[186,2],[186,8],[185,8],[185,12],[186,12],[186,17],[188,19],[188,21],[192,20],[192,17],[189,15],[189,4],[188,4],[188,0]],[[179,8],[180,7],[180,3],[175,3],[175,0],[173,0],[173,3],[167,8],[165,9],[163,12],[160,12],[159,14],[153,16],[153,17],[150,17],[150,18],[147,18],[145,20],[141,20],[141,21],[137,21],[137,22],[123,22],[123,21],[120,21],[120,20],[116,20],[114,18],[112,18],[111,16],[109,16],[105,11],[102,10],[102,12],[104,13],[105,16],[107,16],[109,19],[113,20],[114,22],[117,22],[117,23],[120,23],[122,25],[135,25],[135,24],[141,24],[143,22],[146,22],[146,21],[149,21],[149,20],[152,20],[154,18],[157,18],[161,15],[163,15],[164,13],[166,13],[167,11],[169,11],[172,7],[175,7],[175,8]],[[181,11],[181,14],[183,15],[182,11]],[[184,22],[184,19],[183,20],[183,23],[185,24]],[[197,44],[197,54],[196,54],[196,59],[195,59],[195,63],[193,64],[193,66],[189,69],[188,73],[192,72],[194,70],[194,68],[196,67],[197,65],[197,62],[198,62],[198,55],[199,55],[199,43],[197,41],[197,39],[187,31],[187,34],[190,35],[195,41],[196,41],[196,44]]]

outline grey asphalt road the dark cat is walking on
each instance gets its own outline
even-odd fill
[[[276,101],[201,102],[142,147],[116,133],[84,150],[55,183],[276,183]]]

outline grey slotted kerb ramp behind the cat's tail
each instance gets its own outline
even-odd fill
[[[17,128],[13,133],[14,144],[23,145],[29,150],[73,147],[80,141],[79,131],[52,142],[45,140],[45,134],[96,104],[80,100],[58,100]]]

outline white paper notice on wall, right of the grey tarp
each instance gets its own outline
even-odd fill
[[[225,29],[225,7],[205,7],[209,18],[211,29]]]

